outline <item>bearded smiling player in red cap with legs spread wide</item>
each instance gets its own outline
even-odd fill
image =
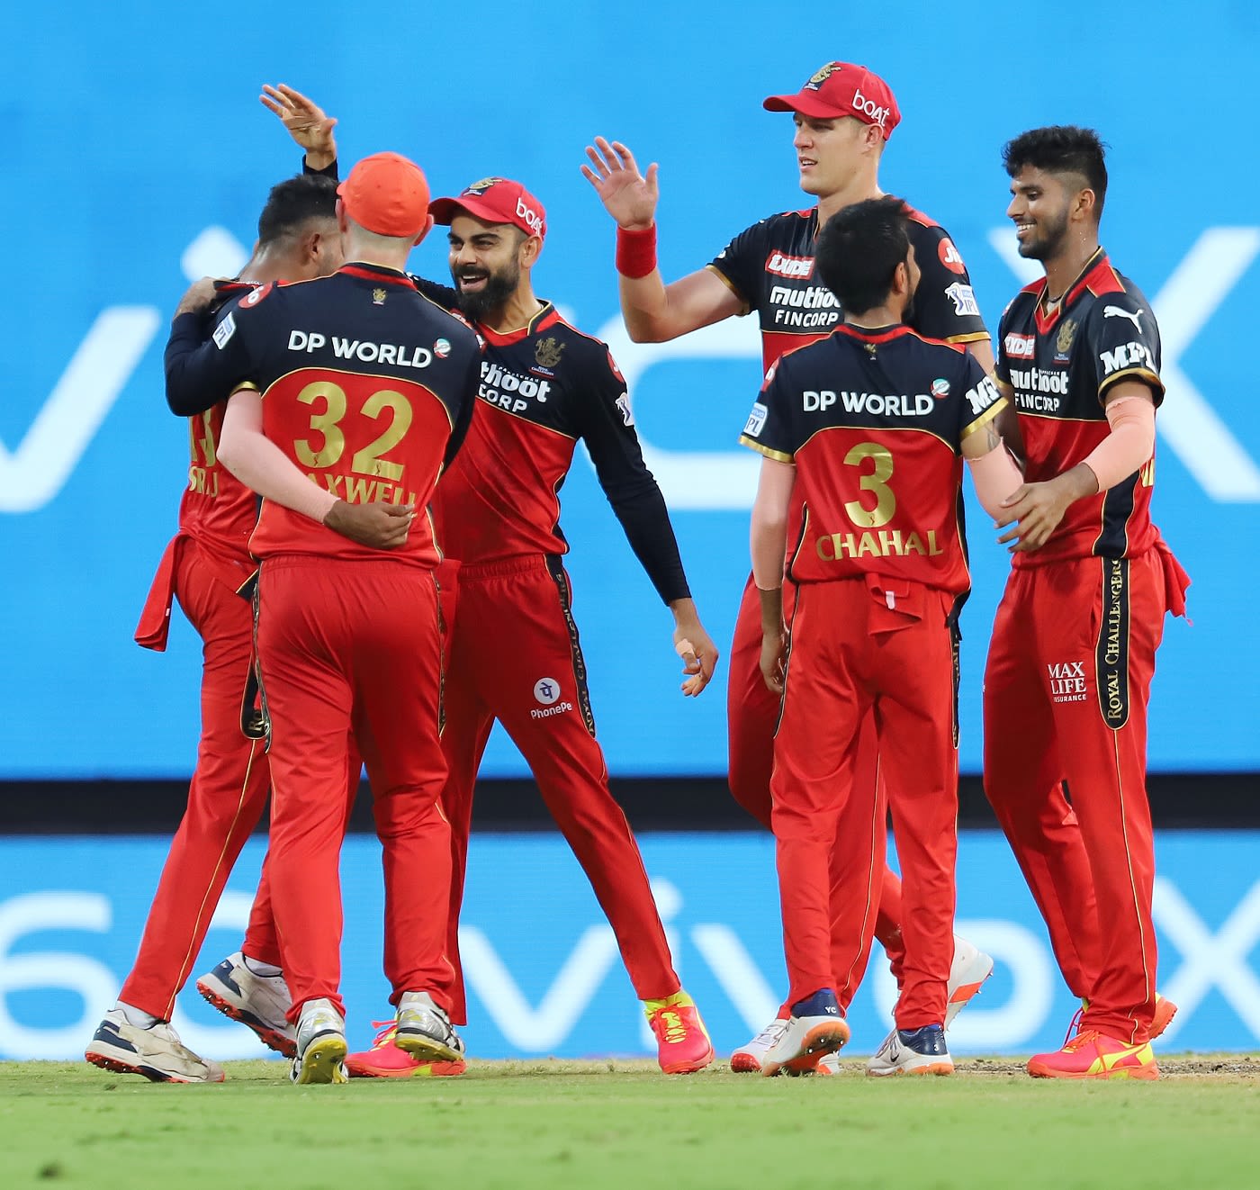
[[[609,918],[656,1036],[660,1068],[667,1074],[699,1070],[713,1060],[713,1048],[674,972],[639,848],[609,790],[595,736],[557,495],[580,440],[673,615],[684,693],[698,695],[708,683],[717,649],[692,601],[665,502],[644,465],[625,381],[604,343],[534,295],[532,271],[547,234],[542,203],[518,182],[485,178],[456,198],[437,199],[431,211],[450,227],[455,287],[417,284],[457,306],[485,342],[478,412],[433,499],[449,560],[442,584],[457,584],[442,735],[450,765],[442,806],[455,840],[447,953],[457,964],[472,792],[498,719]],[[461,979],[455,1020],[465,1020]],[[362,1074],[420,1073],[404,1059],[387,1029],[349,1065]]]

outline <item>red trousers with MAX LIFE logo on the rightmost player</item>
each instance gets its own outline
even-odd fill
[[[1082,1027],[1133,1044],[1155,1003],[1147,703],[1187,585],[1163,542],[1017,567],[984,673],[984,790],[1063,978],[1089,1000]]]

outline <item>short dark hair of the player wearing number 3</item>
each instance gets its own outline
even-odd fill
[[[814,260],[823,284],[845,314],[866,314],[892,290],[897,265],[910,256],[906,204],[886,194],[838,211],[818,237]]]

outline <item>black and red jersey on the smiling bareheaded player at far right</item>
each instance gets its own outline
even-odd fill
[[[1002,315],[997,377],[1014,393],[1034,483],[1082,463],[1110,432],[1108,390],[1121,379],[1150,387],[1158,406],[1159,326],[1142,291],[1099,248],[1052,311],[1046,279],[1022,289]],[[1016,566],[1060,558],[1130,557],[1159,532],[1150,521],[1154,456],[1114,488],[1076,500],[1041,550],[1016,553]]]

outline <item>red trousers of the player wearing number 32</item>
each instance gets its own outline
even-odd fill
[[[451,840],[440,795],[441,645],[432,571],[398,562],[267,558],[258,658],[271,717],[267,871],[290,1020],[307,1000],[344,1015],[341,893],[349,736],[372,783],[386,885],[391,1002],[427,991],[450,1007],[444,958]]]

